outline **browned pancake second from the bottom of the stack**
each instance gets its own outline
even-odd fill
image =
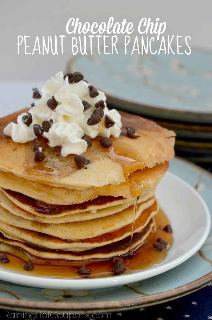
[[[159,205],[155,201],[151,207],[143,211],[137,220],[135,220],[134,233],[140,232],[149,221],[157,214]],[[11,240],[17,240],[23,243],[33,244],[40,248],[51,250],[70,250],[81,252],[90,250],[106,244],[117,242],[131,235],[132,223],[123,228],[115,230],[110,233],[103,234],[102,236],[83,239],[79,241],[66,241],[55,236],[49,236],[40,232],[26,230],[18,227],[11,226],[1,221],[0,232]]]

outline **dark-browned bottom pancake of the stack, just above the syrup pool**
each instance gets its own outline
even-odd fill
[[[151,230],[155,227],[155,221],[151,219],[146,227],[141,232],[134,233],[132,237],[132,246],[131,249],[137,248],[143,241],[148,237]],[[11,240],[0,234],[0,241],[3,244],[12,245],[12,248],[8,246],[4,246],[4,252],[16,254],[15,247],[19,247],[26,251],[29,255],[33,257],[43,258],[43,259],[51,259],[51,260],[66,260],[66,261],[82,261],[88,259],[107,259],[116,255],[126,254],[130,249],[130,239],[128,236],[123,240],[104,245],[102,247],[94,248],[91,250],[86,250],[82,252],[74,252],[74,251],[54,251],[49,249],[42,249],[30,244],[22,243],[18,240]],[[0,244],[0,250],[1,244]],[[5,251],[6,250],[6,251]],[[37,259],[36,259],[37,260]]]

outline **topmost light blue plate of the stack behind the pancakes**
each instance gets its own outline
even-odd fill
[[[119,109],[212,123],[212,52],[192,48],[190,55],[131,55],[129,50],[125,55],[118,47],[118,53],[77,55],[68,68],[83,72]]]

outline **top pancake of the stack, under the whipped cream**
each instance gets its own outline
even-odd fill
[[[87,148],[83,154],[90,160],[90,164],[86,166],[86,170],[84,168],[79,170],[73,160],[75,155],[61,157],[60,147],[48,147],[45,138],[19,144],[4,135],[4,127],[9,122],[16,122],[17,116],[26,111],[27,109],[23,109],[0,119],[0,169],[28,180],[70,189],[117,185],[126,180],[123,161],[126,166],[130,161],[126,158],[135,160],[130,169],[130,172],[133,172],[145,167],[151,168],[174,157],[173,131],[140,116],[120,112],[123,127],[132,126],[140,137],[136,139],[126,135],[120,135],[119,138],[111,137],[113,148],[110,150],[101,147],[98,139],[92,140],[92,147]],[[123,129],[123,132],[126,130]],[[34,161],[33,147],[37,144],[45,149],[47,157],[41,163]],[[116,155],[126,158],[117,158]]]

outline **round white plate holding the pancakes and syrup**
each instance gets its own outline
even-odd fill
[[[178,266],[196,253],[205,242],[211,224],[209,210],[204,200],[189,184],[170,172],[167,172],[160,182],[157,197],[174,231],[174,244],[166,259],[158,266],[133,274],[98,279],[25,276],[1,270],[0,267],[0,279],[16,284],[51,289],[95,289],[133,283]]]

